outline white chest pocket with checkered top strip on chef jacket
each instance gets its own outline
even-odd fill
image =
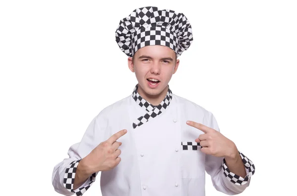
[[[200,144],[194,141],[182,141],[181,145],[182,178],[204,178],[205,154],[201,152]]]

